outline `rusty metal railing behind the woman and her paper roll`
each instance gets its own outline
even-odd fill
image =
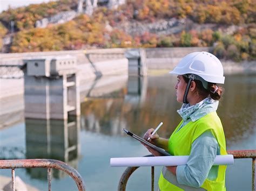
[[[252,159],[252,190],[255,190],[255,159],[256,159],[256,150],[237,150],[237,151],[227,151],[228,154],[232,154],[234,159]],[[145,157],[152,157],[153,155],[146,155]],[[119,184],[118,184],[118,191],[125,191],[127,181],[129,180],[131,174],[136,171],[139,167],[127,167],[122,174]],[[151,190],[154,190],[154,167],[151,167]]]

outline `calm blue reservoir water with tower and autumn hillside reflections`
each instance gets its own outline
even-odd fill
[[[111,77],[111,76],[109,76]],[[125,167],[110,167],[112,157],[141,157],[149,154],[123,128],[139,136],[160,122],[161,137],[168,138],[181,118],[174,85],[176,76],[129,77],[112,91],[87,94],[81,103],[80,118],[68,125],[63,121],[24,122],[0,130],[0,148],[17,147],[24,158],[53,158],[65,161],[82,175],[86,190],[117,190]],[[223,99],[218,115],[224,126],[227,150],[256,149],[256,74],[226,75]],[[92,88],[93,90],[93,88]],[[49,125],[50,124],[50,125]],[[70,123],[69,123],[70,124]],[[50,129],[49,129],[50,127]],[[76,149],[72,150],[75,145]],[[160,167],[155,171],[155,185]],[[10,169],[0,170],[10,176]],[[25,183],[47,189],[45,169],[16,169]],[[227,190],[252,189],[251,159],[236,159],[226,171]],[[150,190],[151,168],[140,167],[127,183],[126,190]],[[58,171],[53,172],[52,190],[77,190],[75,182]]]

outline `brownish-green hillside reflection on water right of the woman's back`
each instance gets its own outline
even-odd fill
[[[246,139],[255,133],[255,84],[255,74],[226,77],[224,99],[220,103],[218,112],[228,139],[227,145]]]

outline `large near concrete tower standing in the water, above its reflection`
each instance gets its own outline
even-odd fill
[[[71,56],[24,60],[25,118],[80,116],[76,59]]]

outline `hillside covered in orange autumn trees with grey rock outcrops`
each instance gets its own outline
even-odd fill
[[[256,58],[254,1],[127,0],[117,9],[98,6],[91,16],[79,14],[63,24],[35,27],[37,20],[76,9],[76,0],[9,9],[0,14],[0,37],[10,35],[13,20],[8,52],[214,46],[219,58]]]

